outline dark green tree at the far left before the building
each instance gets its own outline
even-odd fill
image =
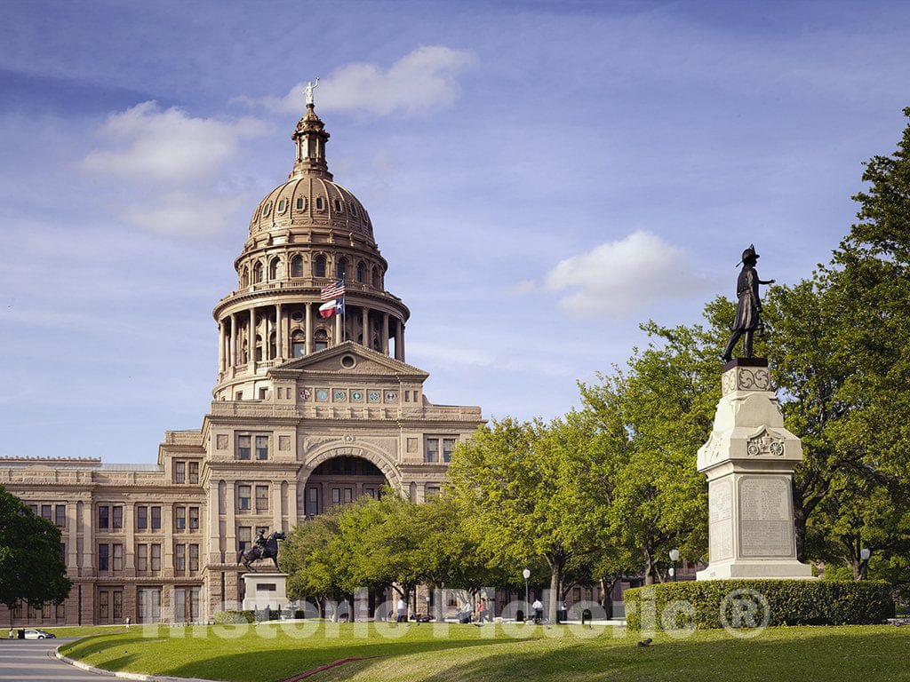
[[[19,600],[35,608],[59,604],[70,587],[60,529],[0,486],[0,602],[9,609],[10,626]]]

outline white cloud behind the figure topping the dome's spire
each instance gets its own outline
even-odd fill
[[[322,111],[421,114],[454,103],[461,94],[458,75],[475,61],[467,50],[422,46],[385,70],[365,62],[341,66],[319,81],[315,99]],[[305,86],[306,83],[298,83],[280,98],[241,101],[297,114],[305,106]]]

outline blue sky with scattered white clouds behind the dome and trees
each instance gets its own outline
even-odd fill
[[[558,416],[638,324],[809,276],[910,105],[910,4],[0,4],[0,456],[151,462],[300,84],[441,404]]]

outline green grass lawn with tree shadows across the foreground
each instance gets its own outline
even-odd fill
[[[684,639],[605,628],[373,624],[133,627],[66,645],[63,653],[110,670],[275,682],[348,657],[319,673],[335,680],[611,680],[611,682],[910,681],[910,627],[776,627],[753,639],[702,630]],[[516,637],[516,631],[522,633]]]

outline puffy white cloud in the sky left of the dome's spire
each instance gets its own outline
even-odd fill
[[[106,142],[83,159],[86,170],[169,183],[214,178],[238,154],[242,138],[263,135],[254,118],[226,122],[194,118],[172,106],[143,102],[108,116],[98,134]]]

